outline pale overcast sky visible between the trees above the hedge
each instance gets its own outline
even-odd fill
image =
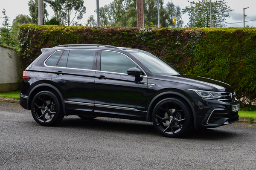
[[[168,1],[173,2],[175,5],[180,6],[181,9],[184,9],[186,6],[189,6],[188,0],[164,0],[166,4]],[[192,0],[189,0],[192,1]],[[198,0],[194,0],[198,2]],[[212,0],[214,2],[215,0]],[[12,25],[13,19],[17,16],[17,14],[26,14],[29,15],[29,0],[0,0],[0,10],[6,9],[6,15],[10,18],[10,24]],[[108,5],[113,0],[99,0],[99,6]],[[227,6],[230,6],[234,11],[230,12],[230,17],[226,18],[227,23],[236,23],[236,24],[228,24],[227,27],[243,27],[243,8],[245,9],[245,21],[255,20],[250,22],[245,22],[245,26],[249,25],[250,27],[256,27],[256,0],[226,0]],[[96,13],[94,10],[96,9],[96,0],[84,0],[84,6],[86,7],[86,14],[84,14],[83,19],[79,22],[83,25],[87,22],[87,19],[90,15],[94,15],[96,19]],[[47,11],[49,13],[49,19],[53,16],[52,9],[48,6]],[[3,13],[0,13],[0,17],[3,17]],[[184,25],[189,21],[189,17],[187,14],[182,15],[182,20],[184,21]],[[0,18],[0,23],[3,23],[3,19]],[[3,25],[1,24],[0,27]]]

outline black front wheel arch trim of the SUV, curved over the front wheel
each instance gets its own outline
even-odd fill
[[[187,102],[189,104],[190,109],[192,110],[192,120],[193,120],[193,127],[196,128],[196,114],[195,114],[195,108],[193,107],[192,101],[190,101],[185,95],[178,93],[178,92],[162,92],[158,95],[156,95],[148,105],[147,109],[147,115],[146,115],[146,121],[152,122],[152,112],[155,107],[155,105],[161,101],[164,98],[170,98],[170,97],[179,97]]]

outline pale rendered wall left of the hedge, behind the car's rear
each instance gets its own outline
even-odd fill
[[[0,45],[0,93],[18,90],[22,80],[20,56],[14,49]]]

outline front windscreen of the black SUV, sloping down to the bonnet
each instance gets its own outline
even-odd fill
[[[157,75],[180,75],[180,72],[173,66],[149,52],[130,52],[130,54]]]

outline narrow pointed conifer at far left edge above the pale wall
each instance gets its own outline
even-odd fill
[[[12,41],[11,41],[11,37],[10,37],[10,32],[11,32],[11,26],[10,26],[10,23],[9,23],[9,17],[7,17],[6,15],[6,10],[3,9],[2,11],[4,17],[1,17],[4,19],[2,25],[3,27],[0,28],[0,42],[2,45],[5,45],[5,46],[10,46]]]

